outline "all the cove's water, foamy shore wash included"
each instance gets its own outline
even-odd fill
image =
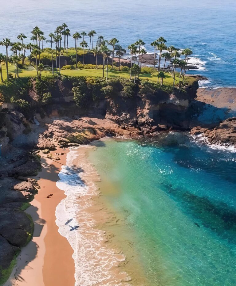
[[[235,162],[188,132],[71,149],[56,223],[75,285],[235,285]]]

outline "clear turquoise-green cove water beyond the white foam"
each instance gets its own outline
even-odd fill
[[[119,190],[103,196],[134,234],[150,285],[235,285],[236,154],[186,133],[95,144],[89,159]]]

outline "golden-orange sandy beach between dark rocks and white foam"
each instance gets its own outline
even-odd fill
[[[62,149],[51,152],[62,152]],[[4,284],[10,285],[74,285],[73,250],[67,239],[58,232],[55,223],[55,210],[65,197],[64,192],[57,188],[57,176],[61,166],[65,164],[66,153],[59,161],[46,158],[42,154],[42,171],[36,176],[41,189],[26,210],[33,218],[35,229],[33,239],[22,248],[17,257],[10,278]],[[53,194],[50,198],[48,195]]]

